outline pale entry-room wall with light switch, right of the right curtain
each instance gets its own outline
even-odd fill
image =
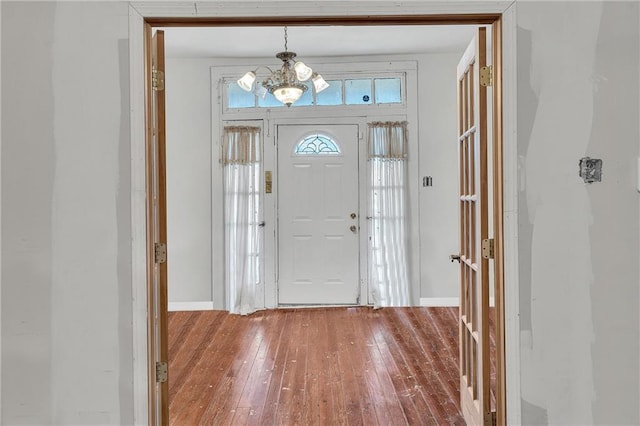
[[[469,40],[471,41],[471,40]],[[462,52],[420,56],[418,65],[420,178],[420,297],[457,298],[459,253],[456,66]]]

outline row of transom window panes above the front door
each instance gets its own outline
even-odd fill
[[[312,90],[309,82],[307,90],[292,107],[305,106],[364,106],[404,103],[404,76],[328,79],[329,87],[320,93]],[[263,96],[246,92],[234,81],[225,81],[225,103],[227,108],[282,108],[270,93]],[[285,107],[286,108],[286,107]]]

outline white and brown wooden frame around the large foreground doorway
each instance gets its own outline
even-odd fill
[[[146,215],[145,129],[145,28],[152,26],[282,26],[294,25],[491,25],[494,64],[494,239],[496,307],[498,312],[497,370],[499,424],[520,423],[519,292],[517,252],[517,147],[515,80],[515,6],[511,2],[412,2],[398,8],[387,2],[347,1],[342,14],[319,11],[291,2],[291,16],[279,16],[282,3],[260,3],[249,8],[242,3],[209,6],[184,3],[137,3],[129,7],[129,55],[131,93],[131,214],[132,214],[132,297],[134,358],[134,422],[148,424],[150,400],[148,255]],[[398,10],[403,14],[398,14]],[[247,15],[249,13],[249,15]],[[453,72],[453,71],[452,71]],[[506,180],[505,180],[506,179]],[[505,279],[508,291],[505,292]],[[506,343],[509,343],[508,345]],[[152,379],[152,378],[151,378]],[[508,390],[508,393],[506,392]]]

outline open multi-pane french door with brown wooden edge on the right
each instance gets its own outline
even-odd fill
[[[478,28],[458,64],[460,404],[468,425],[494,420],[489,358],[487,34]],[[481,74],[483,74],[481,76]]]

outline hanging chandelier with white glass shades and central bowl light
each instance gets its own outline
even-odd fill
[[[300,99],[307,90],[307,85],[303,84],[304,81],[311,79],[316,93],[320,93],[329,87],[329,83],[320,74],[306,66],[304,62],[295,61],[295,57],[296,53],[289,52],[287,48],[287,27],[284,27],[284,52],[276,54],[276,58],[282,61],[282,67],[275,71],[269,67],[258,67],[254,71],[249,71],[243,75],[238,80],[238,86],[247,92],[251,92],[256,81],[256,72],[260,68],[266,68],[271,74],[256,88],[258,93],[262,92],[264,96],[266,92],[269,92],[288,107]]]

